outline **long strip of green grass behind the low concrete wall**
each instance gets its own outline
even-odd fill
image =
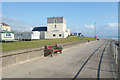
[[[73,41],[83,41],[83,40],[93,40],[95,38],[92,37],[84,37],[84,38],[61,38],[61,39],[49,39],[49,40],[36,40],[36,41],[18,41],[11,43],[2,43],[2,51],[11,51],[18,49],[26,49],[26,48],[35,48],[45,45],[59,44],[59,43],[68,43]]]

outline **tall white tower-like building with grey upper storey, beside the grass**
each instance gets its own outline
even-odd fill
[[[66,29],[66,20],[64,17],[48,17],[47,32],[45,39],[66,38],[70,35],[70,29]]]

